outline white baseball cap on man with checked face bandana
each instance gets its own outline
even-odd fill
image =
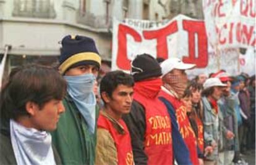
[[[195,64],[184,63],[179,58],[171,57],[164,60],[161,64],[163,76],[173,69],[189,70],[195,67]]]

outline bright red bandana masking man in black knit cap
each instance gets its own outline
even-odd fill
[[[145,81],[135,82],[134,91],[140,93],[144,97],[155,98],[161,89],[161,78],[148,79]]]

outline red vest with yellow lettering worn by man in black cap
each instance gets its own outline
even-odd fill
[[[150,99],[137,93],[134,94],[134,100],[145,109],[144,151],[148,156],[148,164],[173,164],[171,119],[165,105],[158,97]]]

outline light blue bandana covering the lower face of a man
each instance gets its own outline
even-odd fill
[[[64,76],[64,78],[68,84],[67,92],[87,122],[89,131],[94,133],[96,124],[96,98],[93,93],[95,76],[93,74],[82,74],[79,76]]]

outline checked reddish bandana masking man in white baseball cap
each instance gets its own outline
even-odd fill
[[[179,98],[182,97],[187,87],[187,75],[186,74],[172,74],[168,73],[163,77],[164,87],[169,91],[176,92]]]

